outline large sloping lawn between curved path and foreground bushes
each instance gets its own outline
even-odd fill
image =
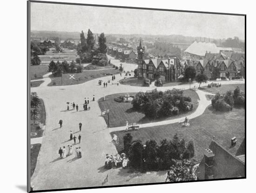
[[[206,108],[205,112],[192,120],[189,120],[190,126],[182,127],[181,124],[174,123],[163,126],[152,126],[141,128],[138,131],[118,131],[112,132],[119,138],[120,144],[117,145],[118,152],[123,149],[123,136],[131,133],[133,140],[141,140],[145,143],[147,140],[160,142],[163,139],[171,140],[175,133],[186,142],[194,141],[195,158],[200,160],[203,156],[204,149],[208,148],[213,135],[215,140],[226,148],[230,153],[236,153],[238,147],[245,136],[245,110],[244,108],[234,108],[231,112],[216,112],[212,106]],[[230,140],[236,136],[236,146],[230,146]]]

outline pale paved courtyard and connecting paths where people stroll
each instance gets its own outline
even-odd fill
[[[114,59],[111,62],[116,66],[119,66],[121,63]],[[136,68],[134,64],[122,64],[125,71],[131,71]],[[133,87],[121,84],[117,86],[116,84],[111,85],[110,83],[107,88],[104,88],[103,85],[98,86],[98,79],[90,80],[79,85],[47,87],[47,84],[51,81],[48,75],[43,76],[44,82],[40,87],[31,88],[31,92],[37,92],[38,96],[44,100],[46,108],[45,133],[41,140],[42,145],[38,162],[31,180],[34,190],[102,186],[102,182],[107,174],[108,182],[104,186],[163,182],[165,180],[166,173],[164,171],[141,174],[128,173],[127,169],[121,168],[105,170],[103,167],[105,155],[107,153],[117,153],[115,145],[111,142],[109,133],[114,130],[122,130],[123,127],[107,128],[105,120],[100,116],[101,110],[97,100],[109,94],[146,92],[147,90],[155,89],[154,87]],[[101,78],[105,82],[108,79],[109,77]],[[123,79],[123,75],[116,75],[115,83],[121,79]],[[244,81],[241,80],[225,81],[222,82],[222,85],[243,83]],[[194,85],[198,86],[197,84]],[[188,89],[189,85],[160,87],[157,89],[167,90],[172,88]],[[206,100],[206,93],[202,91],[197,91],[197,93],[200,97],[199,106],[194,113],[189,115],[189,119],[201,115],[210,104],[210,101]],[[91,101],[93,95],[95,95],[96,101]],[[85,97],[89,97],[90,99],[90,111],[82,110]],[[78,104],[79,111],[66,111],[67,102]],[[59,128],[58,124],[60,119],[63,120],[62,128]],[[171,124],[180,121],[180,119],[161,121],[154,124]],[[79,122],[82,123],[81,132],[78,132]],[[145,124],[142,127],[148,127],[151,124]],[[75,136],[78,137],[79,134],[82,136],[81,144],[74,146],[81,146],[82,158],[76,160],[73,154],[65,159],[59,160],[59,148],[73,144],[73,141],[68,141],[70,130],[73,131]]]

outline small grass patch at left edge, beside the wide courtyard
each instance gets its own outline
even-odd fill
[[[42,123],[45,125],[45,120],[46,120],[46,113],[45,113],[45,106],[44,106],[44,101],[42,99],[40,99],[40,106],[37,108],[39,113],[40,113],[40,118],[38,120],[39,123]],[[31,108],[31,110],[33,110],[33,108]],[[36,138],[36,137],[41,137],[44,133],[44,130],[40,129],[39,124],[33,124],[34,120],[31,119],[31,125],[30,125],[30,129],[31,129],[31,133],[36,133],[35,136],[32,136],[31,138]]]

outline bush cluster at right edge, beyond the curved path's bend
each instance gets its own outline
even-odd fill
[[[234,92],[228,91],[225,94],[221,95],[217,93],[211,100],[212,106],[217,111],[231,111],[236,106],[244,106],[245,104],[245,95],[240,90],[239,87],[236,87]]]

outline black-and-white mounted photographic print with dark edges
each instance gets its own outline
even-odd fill
[[[28,192],[246,178],[246,15],[27,7]]]

